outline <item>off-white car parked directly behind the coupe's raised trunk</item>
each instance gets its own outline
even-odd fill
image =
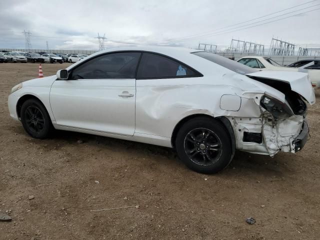
[[[259,70],[272,70],[272,71],[301,71],[309,74],[312,86],[317,88],[320,87],[320,70],[312,69],[302,66],[282,66],[272,59],[265,56],[244,56],[237,60],[237,62],[242,63],[246,66],[256,68]],[[307,63],[306,63],[307,64]]]

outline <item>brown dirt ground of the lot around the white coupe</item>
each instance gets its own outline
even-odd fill
[[[66,65],[43,64],[44,76]],[[64,131],[30,138],[7,96],[37,72],[0,64],[0,212],[12,217],[0,239],[320,239],[320,90],[301,152],[236,152],[224,171],[203,175],[169,148]]]

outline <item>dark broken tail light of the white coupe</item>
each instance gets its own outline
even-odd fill
[[[278,120],[279,118],[285,119],[294,114],[287,104],[270,96],[262,96],[260,105],[267,110],[275,120]]]

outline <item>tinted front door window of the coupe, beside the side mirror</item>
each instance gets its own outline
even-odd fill
[[[69,79],[134,78],[140,52],[115,52],[94,57],[72,69]]]

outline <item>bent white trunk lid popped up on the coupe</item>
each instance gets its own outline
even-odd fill
[[[246,74],[267,81],[267,79],[278,80],[290,84],[291,90],[300,94],[311,105],[315,102],[314,90],[306,73],[293,71],[257,71]]]

